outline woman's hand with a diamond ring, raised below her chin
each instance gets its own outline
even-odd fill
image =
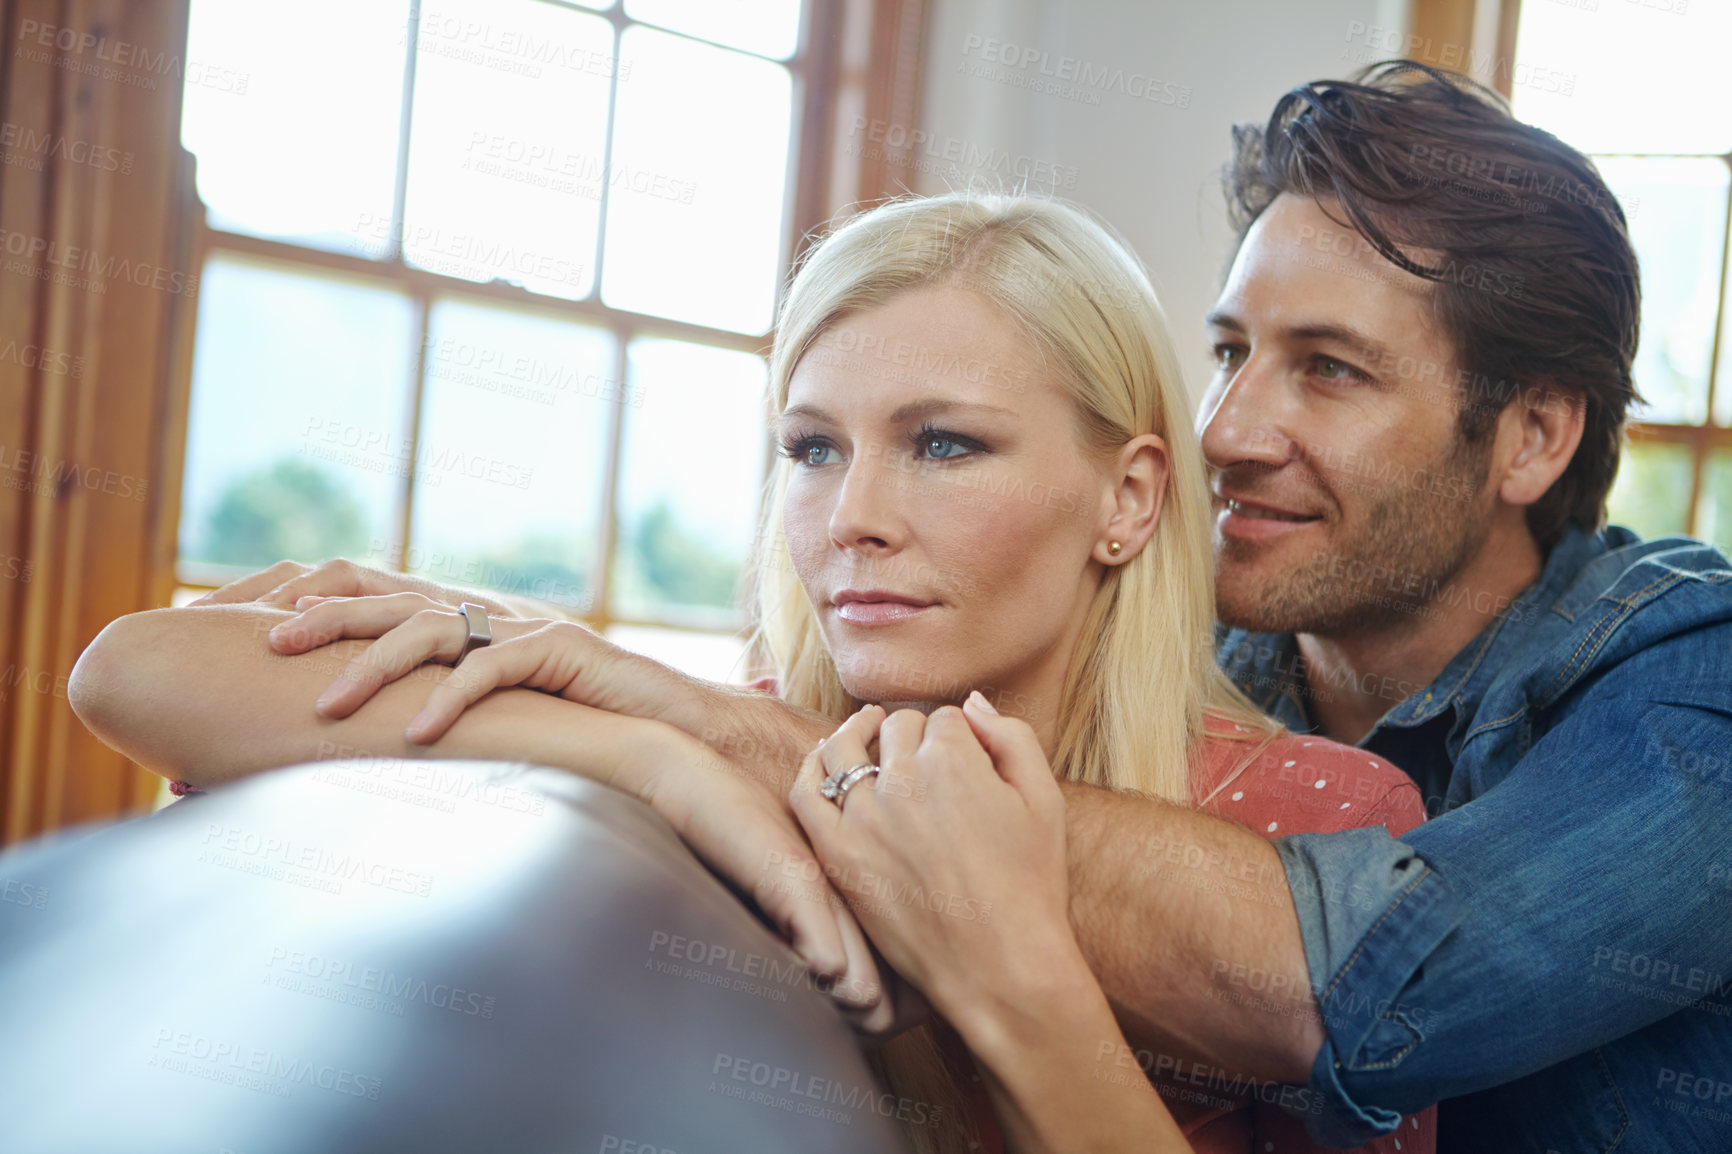
[[[894,970],[953,1022],[1039,988],[1081,956],[1069,918],[1065,804],[1034,729],[972,697],[930,717],[868,705],[800,769],[793,813]],[[871,759],[845,807],[819,783]]]

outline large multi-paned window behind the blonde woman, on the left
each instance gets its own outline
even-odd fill
[[[352,556],[738,676],[800,0],[194,0],[178,580]],[[191,596],[191,593],[187,594]]]

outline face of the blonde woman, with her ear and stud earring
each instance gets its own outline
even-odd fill
[[[849,691],[930,709],[979,688],[1044,729],[1107,541],[1129,560],[1152,520],[1121,523],[1117,459],[1089,461],[1020,327],[951,286],[849,314],[795,367],[778,438],[788,553]]]

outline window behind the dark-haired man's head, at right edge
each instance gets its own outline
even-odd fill
[[[1722,549],[1732,549],[1729,42],[1727,5],[1524,3],[1514,69],[1516,114],[1593,158],[1642,265],[1635,383],[1647,404],[1632,414],[1611,520]]]

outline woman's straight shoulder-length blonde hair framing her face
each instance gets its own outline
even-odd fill
[[[1051,762],[1060,780],[1199,804],[1192,759],[1205,712],[1240,723],[1242,736],[1268,740],[1280,728],[1214,660],[1207,478],[1147,272],[1105,225],[1063,201],[979,192],[889,201],[831,230],[797,270],[771,352],[772,414],[831,324],[928,286],[979,293],[1032,338],[1093,459],[1143,433],[1166,442],[1160,518],[1147,548],[1105,567],[1065,671]],[[779,457],[764,501],[752,653],[785,700],[840,724],[864,702],[843,684],[781,535],[790,470]],[[892,1090],[958,1114],[960,1128],[911,1128],[914,1147],[966,1151],[972,1125],[932,1031],[909,1031],[875,1057]]]

